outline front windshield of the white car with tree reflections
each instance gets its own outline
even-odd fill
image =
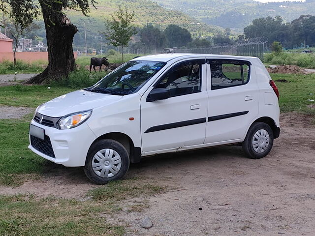
[[[165,62],[160,61],[131,60],[86,90],[113,95],[134,93],[165,64]]]

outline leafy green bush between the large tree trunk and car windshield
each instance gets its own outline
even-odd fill
[[[68,75],[68,78],[63,78],[58,84],[72,89],[84,89],[97,83],[100,79],[104,78],[106,74],[107,72],[90,73],[85,68],[80,68],[71,72]]]

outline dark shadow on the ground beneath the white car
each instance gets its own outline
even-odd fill
[[[191,166],[202,168],[204,165],[216,165],[222,162],[228,164],[231,160],[239,158],[246,158],[246,156],[242,148],[238,146],[220,146],[158,154],[142,158],[140,163],[131,163],[124,179],[143,178],[147,174],[148,176],[158,176],[165,168],[180,171],[179,169],[189,169]],[[54,179],[57,184],[92,184],[85,176],[83,167],[64,167],[50,161],[45,163],[43,176]]]

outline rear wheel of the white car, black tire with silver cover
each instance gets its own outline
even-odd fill
[[[249,158],[260,159],[268,155],[273,143],[274,133],[270,126],[263,122],[254,122],[247,132],[242,147]]]

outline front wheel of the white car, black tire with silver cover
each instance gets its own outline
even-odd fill
[[[103,139],[89,149],[84,172],[96,184],[106,184],[125,176],[129,169],[129,155],[119,142]]]

